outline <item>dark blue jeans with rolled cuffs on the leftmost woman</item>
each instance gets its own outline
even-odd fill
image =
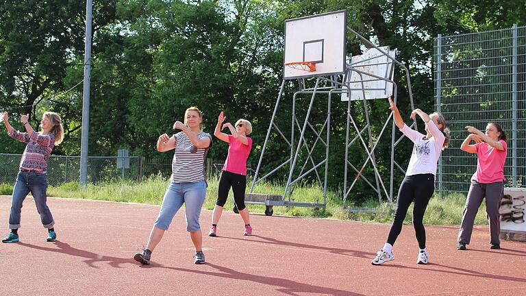
[[[40,221],[45,228],[55,225],[53,215],[47,207],[47,174],[18,172],[16,183],[13,189],[13,199],[11,201],[11,212],[9,214],[10,229],[20,228],[20,216],[22,203],[27,194],[31,192],[35,199],[36,210],[40,214]]]

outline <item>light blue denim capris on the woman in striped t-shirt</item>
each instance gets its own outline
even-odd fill
[[[195,183],[170,183],[164,198],[162,199],[159,217],[154,226],[162,230],[168,230],[173,217],[185,204],[186,209],[186,231],[196,232],[200,230],[199,214],[206,197],[206,183],[199,181]]]

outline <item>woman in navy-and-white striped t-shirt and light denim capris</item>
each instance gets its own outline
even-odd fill
[[[159,136],[157,150],[160,152],[175,149],[172,161],[171,182],[164,194],[159,217],[150,233],[148,245],[134,259],[142,264],[150,264],[151,252],[160,243],[162,236],[183,204],[186,205],[186,231],[195,246],[195,264],[203,264],[205,255],[201,247],[203,236],[199,225],[199,214],[206,197],[206,154],[212,147],[212,136],[201,130],[203,116],[195,107],[186,109],[184,124],[176,121],[174,130],[181,130],[168,137]]]

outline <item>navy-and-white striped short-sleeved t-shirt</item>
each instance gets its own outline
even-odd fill
[[[206,180],[206,154],[212,147],[212,136],[201,132],[197,138],[210,138],[210,146],[197,148],[184,132],[173,135],[175,138],[175,153],[172,160],[172,183],[199,182]]]

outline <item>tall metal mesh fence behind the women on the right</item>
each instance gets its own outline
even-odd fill
[[[467,192],[475,155],[461,151],[466,125],[499,123],[508,136],[506,186],[526,186],[526,27],[438,36],[434,45],[436,110],[451,130],[440,158],[439,193]]]

